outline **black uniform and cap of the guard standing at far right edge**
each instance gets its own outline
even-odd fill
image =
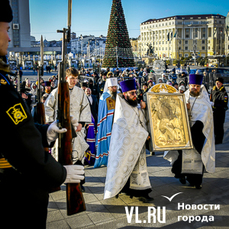
[[[215,81],[223,83],[223,78],[217,78]],[[225,113],[228,109],[228,95],[224,86],[218,89],[213,87],[210,100],[214,102],[213,106],[213,118],[214,118],[214,132],[215,132],[215,144],[221,144],[224,136],[224,121]]]

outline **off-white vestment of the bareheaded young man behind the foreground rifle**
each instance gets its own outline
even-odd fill
[[[70,115],[77,119],[78,122],[91,123],[91,109],[84,91],[79,87],[74,87],[70,92]],[[46,122],[53,122],[56,119],[58,108],[58,88],[54,89],[45,101],[45,118]],[[77,132],[77,137],[72,140],[73,160],[83,160],[84,152],[89,145],[85,141],[85,129]],[[57,146],[56,141],[56,146]],[[52,151],[53,156],[57,159],[56,151]],[[83,162],[83,161],[82,161]]]

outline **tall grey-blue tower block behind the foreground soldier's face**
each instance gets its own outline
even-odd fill
[[[29,0],[10,0],[13,21],[9,29],[11,51],[20,47],[31,47]]]

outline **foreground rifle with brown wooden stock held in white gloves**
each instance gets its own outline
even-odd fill
[[[58,161],[62,165],[72,164],[72,134],[74,128],[70,119],[70,94],[68,83],[65,80],[65,54],[66,46],[70,41],[71,27],[71,9],[72,0],[68,0],[68,29],[57,30],[63,33],[62,39],[62,61],[59,63],[58,69],[58,111],[57,122],[59,128],[66,128],[67,132],[59,134],[58,139]],[[86,210],[83,194],[80,184],[66,184],[67,197],[67,215],[73,215]]]

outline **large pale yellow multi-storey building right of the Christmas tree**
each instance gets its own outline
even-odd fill
[[[140,32],[139,53],[142,57],[149,47],[157,58],[225,53],[225,17],[219,14],[150,19],[141,23]]]

